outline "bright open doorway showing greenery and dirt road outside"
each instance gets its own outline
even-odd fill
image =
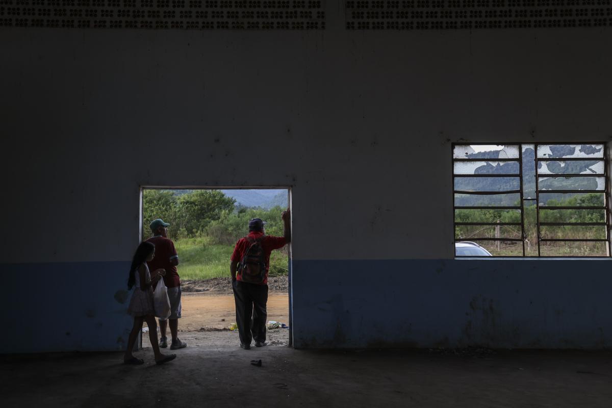
[[[283,210],[291,207],[288,187],[195,188],[142,187],[140,234],[152,236],[149,224],[170,224],[167,237],[179,257],[181,318],[178,336],[188,347],[239,347],[236,308],[230,277],[234,246],[248,234],[248,221],[266,221],[267,236],[282,237]],[[291,346],[291,245],[272,251],[266,318],[268,346]],[[148,328],[143,328],[146,333]],[[159,330],[159,328],[158,328]],[[170,347],[170,331],[166,333]],[[160,338],[160,333],[158,333]],[[150,347],[148,335],[142,346]]]

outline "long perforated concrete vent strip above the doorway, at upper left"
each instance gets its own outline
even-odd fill
[[[324,0],[0,0],[0,27],[325,29]]]

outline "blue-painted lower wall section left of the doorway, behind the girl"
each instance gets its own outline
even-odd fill
[[[124,350],[130,262],[0,265],[5,311],[0,352]]]

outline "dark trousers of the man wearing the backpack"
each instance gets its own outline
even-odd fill
[[[232,287],[240,343],[251,344],[251,339],[266,341],[267,285],[234,281]]]

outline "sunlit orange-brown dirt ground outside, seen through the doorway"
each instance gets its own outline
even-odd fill
[[[183,292],[182,313],[179,319],[179,338],[188,346],[237,346],[237,330],[230,330],[236,322],[234,295],[223,291]],[[270,292],[267,302],[267,320],[289,324],[289,295]],[[168,333],[170,336],[170,333]],[[159,333],[158,333],[159,338]],[[268,330],[267,343],[289,344],[288,328]],[[143,347],[151,347],[149,335],[143,333]]]

